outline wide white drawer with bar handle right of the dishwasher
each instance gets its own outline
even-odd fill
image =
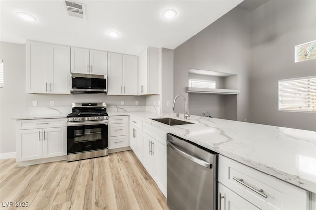
[[[219,155],[219,182],[260,209],[308,209],[308,192]]]

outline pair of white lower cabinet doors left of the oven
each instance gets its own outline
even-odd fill
[[[67,154],[66,127],[17,130],[16,161]]]

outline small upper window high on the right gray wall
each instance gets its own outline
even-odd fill
[[[316,58],[316,40],[295,46],[295,62]]]

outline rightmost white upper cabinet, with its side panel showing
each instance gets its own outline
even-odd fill
[[[147,47],[139,56],[140,95],[159,94],[159,48]]]

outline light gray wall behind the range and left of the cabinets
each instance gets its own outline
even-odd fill
[[[0,153],[15,152],[15,120],[11,118],[25,113],[32,106],[33,100],[38,100],[39,106],[49,106],[49,101],[55,101],[55,106],[70,107],[72,102],[105,101],[108,106],[146,105],[145,96],[107,96],[96,94],[53,95],[25,93],[25,45],[1,42],[0,59],[4,60],[4,88],[0,88]]]

